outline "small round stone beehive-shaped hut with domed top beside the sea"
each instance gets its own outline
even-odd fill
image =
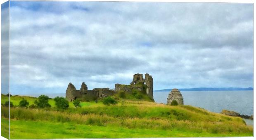
[[[172,89],[167,98],[167,104],[171,105],[171,102],[176,100],[179,105],[183,105],[183,97],[178,89]]]

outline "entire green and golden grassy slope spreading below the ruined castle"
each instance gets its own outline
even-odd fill
[[[11,101],[15,106],[22,98],[11,96]],[[30,103],[36,99],[24,98]],[[11,139],[253,136],[253,128],[240,117],[192,106],[116,99],[118,104],[110,106],[81,102],[81,108],[69,102],[65,111],[57,111],[52,99],[48,109],[11,108]],[[1,103],[5,101],[7,96],[1,95]],[[7,131],[7,117],[8,108],[1,106],[2,133]]]

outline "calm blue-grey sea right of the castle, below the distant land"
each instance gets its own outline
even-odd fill
[[[166,103],[170,92],[154,92],[156,103]],[[253,115],[253,91],[181,91],[184,105],[204,108],[211,112],[221,112],[223,109],[239,112],[241,115]],[[248,125],[253,125],[250,119],[244,119]]]

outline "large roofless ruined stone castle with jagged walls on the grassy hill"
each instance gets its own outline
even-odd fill
[[[148,73],[145,74],[145,79],[142,74],[134,74],[133,81],[130,85],[115,84],[114,90],[110,90],[109,88],[95,88],[93,90],[88,90],[88,87],[84,82],[82,83],[80,90],[76,90],[76,87],[72,83],[69,83],[68,88],[66,89],[66,99],[69,101],[75,99],[92,101],[121,91],[131,94],[133,90],[147,94],[147,96],[154,101],[153,78]]]

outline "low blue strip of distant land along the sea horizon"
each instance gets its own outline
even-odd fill
[[[254,90],[252,87],[198,87],[181,88],[180,91],[234,91],[234,90]],[[171,89],[154,90],[154,92],[170,92]]]

